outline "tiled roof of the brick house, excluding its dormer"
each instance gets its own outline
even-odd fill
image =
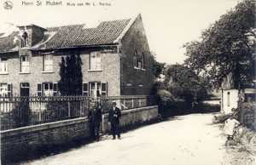
[[[84,24],[46,28],[44,40],[31,49],[73,48],[116,43],[116,39],[125,31],[131,19],[103,21],[95,28],[86,28]],[[18,50],[19,31],[7,37],[0,33],[0,52]]]

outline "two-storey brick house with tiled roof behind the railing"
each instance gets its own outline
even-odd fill
[[[0,32],[0,94],[57,94],[61,57],[79,53],[83,95],[148,95],[152,57],[141,14],[134,19]]]

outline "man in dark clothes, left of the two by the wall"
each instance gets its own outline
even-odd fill
[[[91,103],[92,108],[89,111],[88,118],[90,119],[90,137],[91,139],[100,139],[100,127],[102,124],[102,109],[96,105],[96,102]]]

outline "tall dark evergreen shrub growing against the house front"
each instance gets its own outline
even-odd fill
[[[62,95],[80,95],[82,94],[83,74],[82,60],[80,54],[75,54],[61,58],[59,90]]]

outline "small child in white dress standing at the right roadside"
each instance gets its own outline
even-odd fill
[[[224,122],[224,133],[227,135],[227,141],[234,138],[235,128],[240,124],[233,116],[230,116]]]

